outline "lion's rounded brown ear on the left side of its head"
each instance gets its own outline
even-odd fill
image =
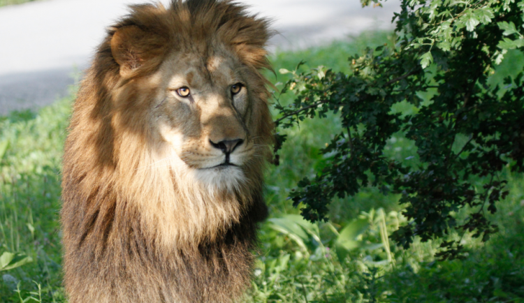
[[[120,27],[111,38],[111,53],[122,77],[154,71],[166,53],[167,39],[136,25]]]

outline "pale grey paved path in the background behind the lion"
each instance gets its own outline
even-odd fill
[[[68,94],[105,27],[145,0],[42,0],[0,8],[0,114],[36,109]],[[240,0],[275,20],[272,49],[296,49],[366,29],[392,28],[399,1],[361,8],[358,0]],[[161,0],[167,4],[168,0]],[[75,72],[76,71],[76,72]]]

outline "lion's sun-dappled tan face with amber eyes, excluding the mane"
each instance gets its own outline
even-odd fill
[[[256,151],[253,71],[226,51],[205,59],[174,52],[143,83],[154,89],[152,128],[161,157],[196,182],[234,188]],[[260,85],[260,84],[259,84]],[[259,101],[260,103],[261,101]]]

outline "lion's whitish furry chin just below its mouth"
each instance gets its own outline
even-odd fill
[[[194,178],[208,189],[234,191],[245,185],[247,178],[236,165],[217,165],[212,168],[193,170]]]

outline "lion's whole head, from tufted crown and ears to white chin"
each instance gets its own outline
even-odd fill
[[[260,187],[272,141],[267,80],[260,73],[269,67],[267,22],[242,17],[233,26],[238,12],[226,9],[228,1],[209,11],[224,9],[226,15],[216,20],[196,13],[204,9],[201,2],[194,8],[177,3],[175,16],[159,19],[166,12],[148,7],[147,14],[155,17],[145,13],[136,23],[149,26],[126,24],[110,34],[108,61],[118,64],[119,73],[112,94],[119,171],[146,174],[147,168],[163,166],[178,189]],[[143,148],[147,151],[140,156]]]

